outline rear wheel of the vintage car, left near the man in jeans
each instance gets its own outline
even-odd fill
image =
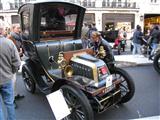
[[[28,78],[25,78],[26,74],[29,77],[29,82],[31,83],[31,86],[29,86],[27,81],[26,81],[28,79]],[[24,85],[26,87],[26,90],[29,91],[30,93],[34,94],[35,91],[36,91],[36,84],[34,82],[33,76],[30,75],[29,72],[25,68],[22,68],[22,75],[23,75],[23,78],[24,78]]]

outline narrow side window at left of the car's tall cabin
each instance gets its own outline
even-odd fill
[[[29,39],[29,12],[28,11],[24,11],[22,13],[22,38],[24,40],[28,40]]]

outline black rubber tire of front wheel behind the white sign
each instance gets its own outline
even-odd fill
[[[77,98],[77,100],[79,101],[79,103],[83,107],[84,117],[85,117],[84,120],[94,120],[93,110],[92,110],[92,107],[89,103],[89,100],[80,89],[78,89],[74,86],[71,86],[71,85],[63,85],[61,87],[61,89],[63,91],[64,97],[65,97],[65,92],[69,91],[71,94],[73,94],[73,96],[75,96]],[[66,99],[66,97],[65,97],[65,99]],[[68,104],[68,106],[69,106],[69,104]],[[73,114],[73,113],[71,112],[71,114]],[[75,120],[75,119],[73,118],[73,120]]]

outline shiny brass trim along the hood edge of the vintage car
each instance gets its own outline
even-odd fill
[[[95,63],[90,62],[90,61],[87,61],[87,60],[83,60],[83,59],[80,59],[80,58],[77,58],[76,56],[72,57],[72,58],[71,58],[71,61],[74,61],[74,62],[77,62],[77,63],[80,63],[80,64],[83,63],[83,65],[86,65],[86,66],[88,66],[88,67],[91,67],[92,70],[93,70],[93,79],[94,79],[96,82],[98,82],[98,73],[97,73],[98,71],[97,71],[97,66],[96,66]]]

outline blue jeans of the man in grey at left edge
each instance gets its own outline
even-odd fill
[[[7,120],[15,120],[15,108],[14,108],[14,93],[13,93],[13,82],[0,85],[0,120],[5,120],[4,112],[2,110],[2,102],[4,102],[7,109]]]

